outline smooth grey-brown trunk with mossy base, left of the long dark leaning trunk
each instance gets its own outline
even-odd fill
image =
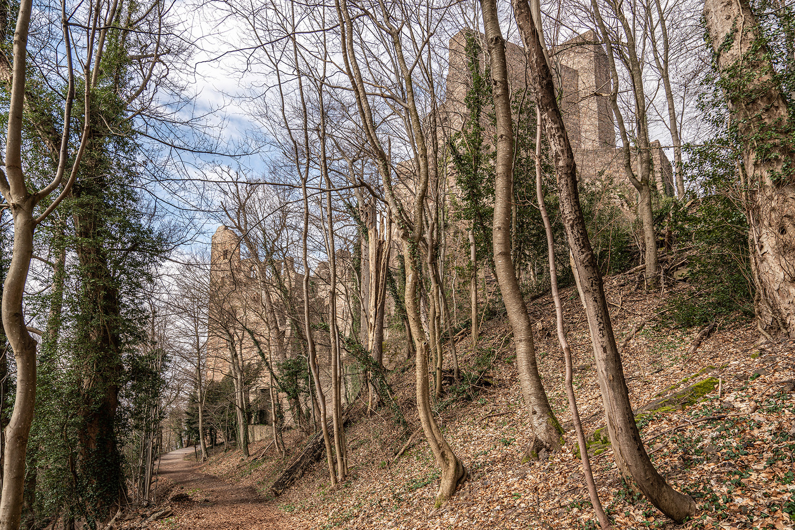
[[[483,27],[486,32],[489,59],[491,61],[492,93],[494,113],[497,121],[497,157],[494,163],[494,223],[492,241],[494,245],[494,273],[502,300],[508,313],[510,327],[514,331],[516,365],[522,395],[530,412],[530,429],[533,439],[527,454],[537,458],[538,451],[560,449],[562,434],[560,424],[549,406],[541,376],[536,363],[533,344],[533,323],[530,321],[522,290],[511,260],[511,208],[514,203],[514,126],[508,93],[508,70],[505,58],[505,40],[499,28],[497,5],[494,0],[481,0]]]

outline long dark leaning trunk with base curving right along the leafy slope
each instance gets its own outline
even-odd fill
[[[557,188],[568,244],[580,277],[588,326],[591,329],[599,389],[607,414],[611,446],[619,470],[628,473],[653,505],[671,519],[681,522],[696,513],[691,497],[678,493],[654,469],[635,424],[629,391],[626,388],[621,356],[607,311],[602,276],[588,240],[580,197],[577,191],[576,165],[572,146],[555,98],[552,72],[530,14],[527,0],[513,0],[514,15],[533,69],[530,76],[536,91],[537,108],[541,110],[546,136],[553,151]]]

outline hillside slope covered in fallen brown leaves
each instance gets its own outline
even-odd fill
[[[696,294],[691,286],[677,284],[653,295],[616,283],[607,280],[607,297],[617,341],[636,331],[626,342],[623,362],[646,449],[663,477],[700,508],[696,518],[677,527],[622,483],[603,431],[588,324],[576,291],[568,288],[562,293],[564,316],[580,416],[599,497],[616,528],[792,528],[795,341],[760,343],[753,322],[724,315],[692,351],[701,327],[672,327],[670,319],[654,317],[669,300]],[[286,493],[273,497],[270,484],[289,455],[278,458],[272,447],[266,450],[268,440],[252,444],[248,459],[239,451],[219,451],[201,470],[254,486],[263,503],[281,513],[285,528],[598,528],[564,393],[553,309],[549,296],[531,305],[541,374],[565,431],[560,452],[542,454],[539,461],[522,458],[527,410],[509,328],[498,317],[483,327],[474,351],[468,336],[457,342],[461,381],[468,382],[448,383],[434,404],[469,472],[444,505],[434,503],[439,472],[421,431],[395,458],[418,425],[410,360],[393,358],[391,379],[409,428],[398,427],[382,410],[367,416],[366,404],[359,404],[347,430],[351,476],[336,489],[329,486],[321,459]],[[300,437],[285,434],[288,447],[297,451]],[[175,516],[149,528],[180,528],[190,511],[190,502],[175,505]]]

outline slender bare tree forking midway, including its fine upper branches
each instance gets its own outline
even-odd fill
[[[360,14],[357,14],[356,18],[351,15],[351,10],[345,0],[336,0],[335,7],[339,18],[340,42],[345,72],[355,95],[356,107],[359,111],[359,118],[366,134],[367,143],[378,165],[378,172],[382,179],[390,215],[403,246],[405,310],[417,352],[417,409],[420,413],[420,421],[425,431],[425,437],[428,439],[436,457],[436,463],[440,466],[442,472],[436,498],[438,501],[444,501],[452,497],[456,490],[456,485],[465,477],[466,470],[444,439],[444,435],[442,435],[439,425],[432,415],[429,393],[429,343],[422,326],[420,304],[417,299],[421,275],[419,254],[426,230],[426,223],[424,222],[425,199],[432,171],[429,164],[436,164],[437,161],[430,156],[432,149],[429,149],[429,133],[423,128],[423,118],[421,118],[418,110],[417,99],[420,94],[415,91],[414,83],[418,76],[415,77],[414,70],[417,63],[423,60],[421,54],[427,52],[428,42],[431,37],[431,28],[428,27],[428,24],[432,23],[430,17],[435,11],[431,6],[423,8],[419,13],[422,17],[427,18],[422,21],[416,21],[413,15],[416,16],[417,10],[414,6],[404,3],[397,3],[389,7],[385,4],[374,4],[372,11],[363,9]],[[413,153],[417,176],[412,190],[413,200],[402,199],[401,196],[397,195],[393,186],[392,179],[395,168],[391,157],[387,154],[387,149],[384,149],[382,137],[379,137],[378,122],[374,117],[373,107],[370,104],[370,98],[373,97],[370,95],[370,82],[369,80],[365,81],[359,66],[359,54],[363,53],[363,43],[355,41],[354,20],[357,22],[360,20],[369,21],[371,23],[368,30],[375,32],[379,38],[383,39],[382,44],[389,56],[389,64],[394,67],[395,77],[393,80],[397,83],[397,90],[385,94],[384,99],[398,104],[394,106],[394,109],[405,127],[409,152]],[[405,27],[407,26],[412,29],[409,33],[405,33]],[[413,33],[415,31],[420,34]],[[407,34],[409,37],[406,37]],[[404,38],[408,38],[411,43],[404,43]],[[417,60],[413,62],[411,59],[407,60],[404,50],[416,54]],[[371,67],[368,65],[367,68]],[[400,168],[399,171],[405,172],[405,168]],[[409,200],[410,209],[405,204]],[[425,250],[426,252],[429,251],[427,248]]]

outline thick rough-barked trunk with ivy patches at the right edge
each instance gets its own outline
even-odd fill
[[[795,126],[748,2],[705,0],[704,17],[743,139],[759,327],[795,337]]]

